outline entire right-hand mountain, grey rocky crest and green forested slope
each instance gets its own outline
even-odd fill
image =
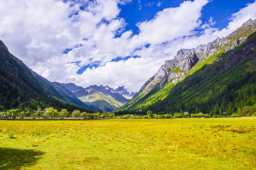
[[[255,31],[256,20],[249,19],[225,38],[217,37],[194,49],[179,50],[118,113],[146,114],[152,110],[173,114],[184,110],[217,114],[219,109],[230,115],[243,106],[253,106]],[[243,95],[246,90],[250,92]]]

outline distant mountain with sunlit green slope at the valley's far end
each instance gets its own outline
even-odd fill
[[[91,85],[73,93],[90,107],[105,112],[117,110],[129,101],[108,85]]]

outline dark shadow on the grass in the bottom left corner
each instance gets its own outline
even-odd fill
[[[22,167],[34,165],[41,156],[42,151],[32,149],[12,149],[0,147],[0,170],[19,170]]]

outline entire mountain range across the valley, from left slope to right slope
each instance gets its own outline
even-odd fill
[[[0,110],[55,107],[69,111],[155,114],[188,111],[231,115],[256,111],[256,20],[193,49],[181,49],[165,61],[138,93],[124,86],[83,88],[50,82],[9,53],[0,41]],[[131,100],[130,100],[131,99]],[[91,109],[91,110],[90,110]]]

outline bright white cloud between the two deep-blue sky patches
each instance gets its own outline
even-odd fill
[[[175,38],[193,34],[200,25],[201,8],[207,0],[184,1],[178,8],[165,8],[154,19],[138,23],[140,33],[132,38],[137,46],[145,43],[159,44]]]

